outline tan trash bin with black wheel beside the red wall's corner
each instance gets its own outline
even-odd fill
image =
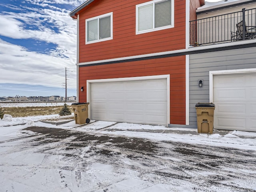
[[[88,118],[88,105],[90,103],[72,103],[71,107],[74,112],[76,124],[85,124],[89,123],[90,119]]]

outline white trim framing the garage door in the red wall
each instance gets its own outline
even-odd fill
[[[167,124],[170,124],[170,74],[167,75],[153,75],[140,77],[126,77],[126,78],[111,78],[111,79],[94,79],[86,81],[86,99],[90,102],[91,83],[97,82],[117,82],[117,81],[136,81],[136,80],[150,80],[150,79],[166,79],[167,81]],[[88,116],[90,118],[90,105],[88,105]]]

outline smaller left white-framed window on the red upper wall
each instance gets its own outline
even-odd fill
[[[85,20],[85,44],[113,39],[113,12]]]

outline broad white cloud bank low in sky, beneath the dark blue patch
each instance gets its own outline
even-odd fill
[[[75,88],[74,63],[69,59],[27,51],[25,48],[0,40],[1,83],[24,83],[60,87],[65,82],[65,67],[69,87]]]

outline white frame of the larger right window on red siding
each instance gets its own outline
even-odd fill
[[[155,4],[155,3],[161,2],[161,1],[163,1],[163,0],[152,0],[152,1],[148,1],[148,2],[136,5],[136,35],[153,32],[153,31],[158,31],[158,30],[164,30],[164,29],[168,29],[168,28],[174,28],[174,0],[171,0],[171,14],[172,14],[172,20],[171,20],[172,24],[171,25],[162,26],[162,27],[158,27],[158,28],[152,28],[152,29],[143,30],[143,31],[138,31],[138,8],[140,6],[145,6],[148,4]],[[153,14],[154,14],[154,10],[153,10]]]

